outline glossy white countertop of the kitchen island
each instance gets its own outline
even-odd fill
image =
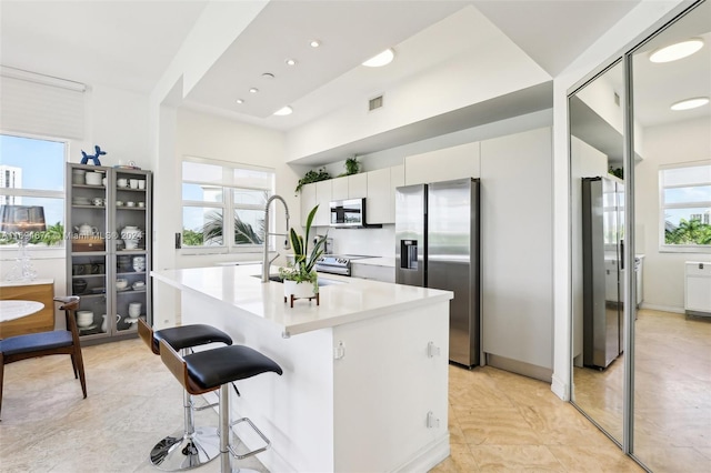
[[[359,260],[362,261],[362,260]],[[278,272],[276,269],[272,273]],[[449,301],[450,291],[390,284],[378,281],[319,275],[341,281],[319,288],[320,305],[299,300],[293,309],[284,303],[283,284],[262,283],[260,265],[194,268],[152,271],[151,275],[182,291],[191,291],[241,309],[256,318],[271,321],[284,336],[358,322],[391,312],[407,310],[423,302]]]

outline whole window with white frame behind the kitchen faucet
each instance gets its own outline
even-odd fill
[[[262,248],[264,203],[274,172],[186,158],[182,162],[182,246],[210,252]]]

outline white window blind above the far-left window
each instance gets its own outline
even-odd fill
[[[42,78],[42,76],[38,76]],[[51,79],[51,78],[49,78]],[[81,84],[78,84],[81,85]],[[84,92],[61,81],[0,76],[0,129],[44,137],[82,139]]]

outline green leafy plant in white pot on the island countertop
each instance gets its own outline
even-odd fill
[[[293,262],[290,262],[287,268],[279,269],[279,275],[283,279],[284,295],[287,298],[291,294],[293,294],[294,298],[311,298],[319,292],[318,274],[313,266],[319,258],[321,258],[321,254],[323,254],[326,235],[317,239],[313,249],[309,252],[309,232],[311,231],[311,223],[318,209],[319,205],[309,212],[306,235],[302,236],[298,234],[293,228],[289,229],[289,240],[293,249]]]

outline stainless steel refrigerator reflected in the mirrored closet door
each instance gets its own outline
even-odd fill
[[[622,353],[624,184],[582,179],[583,360],[604,369]]]

